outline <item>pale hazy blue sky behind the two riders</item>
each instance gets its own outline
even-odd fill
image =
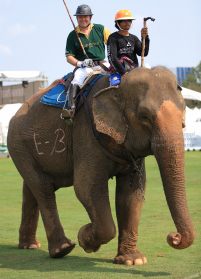
[[[196,67],[201,61],[201,0],[86,0],[67,1],[71,16],[87,4],[92,23],[111,32],[118,10],[128,9],[136,20],[130,33],[140,36],[144,17],[150,37],[145,64],[151,67]],[[0,0],[0,71],[41,71],[49,84],[73,71],[66,62],[65,46],[73,30],[63,0]],[[141,58],[138,58],[139,64]]]

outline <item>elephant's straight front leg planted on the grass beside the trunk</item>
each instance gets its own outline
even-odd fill
[[[137,249],[138,225],[144,202],[142,190],[145,191],[145,171],[142,179],[138,173],[133,176],[130,186],[130,174],[117,176],[116,213],[119,228],[117,264],[142,265],[146,257]]]

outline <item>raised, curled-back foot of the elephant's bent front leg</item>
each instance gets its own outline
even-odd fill
[[[101,246],[97,241],[94,241],[92,224],[87,224],[80,229],[78,241],[86,253],[97,252]]]

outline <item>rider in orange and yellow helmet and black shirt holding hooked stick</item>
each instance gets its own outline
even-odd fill
[[[122,75],[121,78],[128,73],[128,70],[138,67],[137,55],[141,56],[142,53],[142,42],[137,36],[129,33],[133,20],[135,20],[135,18],[133,18],[130,11],[118,11],[115,15],[115,27],[118,31],[112,33],[108,38],[108,60],[112,65],[113,70]],[[147,27],[142,28],[141,36],[146,36],[144,56],[147,56],[149,52]],[[127,61],[127,63],[123,63],[124,66],[121,63],[122,60],[125,62]],[[125,65],[127,67],[125,67]]]

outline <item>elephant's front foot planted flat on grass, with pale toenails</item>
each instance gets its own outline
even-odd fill
[[[116,264],[125,264],[125,265],[143,265],[147,263],[146,257],[141,254],[138,250],[135,252],[127,252],[126,254],[117,255],[114,258]]]

